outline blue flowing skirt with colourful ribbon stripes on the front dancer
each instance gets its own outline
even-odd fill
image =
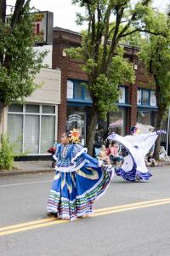
[[[75,172],[56,172],[48,196],[48,212],[71,220],[92,214],[94,201],[104,194],[112,174],[87,166]]]

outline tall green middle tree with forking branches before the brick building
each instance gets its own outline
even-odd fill
[[[82,32],[82,46],[67,49],[74,59],[82,61],[88,75],[88,90],[93,100],[88,127],[87,144],[92,154],[94,132],[98,117],[116,108],[118,85],[133,83],[133,65],[123,56],[119,44],[135,32],[155,32],[148,27],[152,14],[151,0],[142,0],[131,6],[130,0],[73,0],[85,9],[84,16],[77,15],[77,23],[88,21],[88,31]],[[153,20],[150,20],[150,24]]]

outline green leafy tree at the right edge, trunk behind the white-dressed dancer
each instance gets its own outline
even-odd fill
[[[150,35],[142,45],[139,58],[156,83],[156,102],[158,115],[156,130],[162,129],[162,123],[170,106],[170,18],[169,15],[155,12],[155,26],[164,29],[165,37]],[[156,141],[155,157],[159,158],[161,137]]]

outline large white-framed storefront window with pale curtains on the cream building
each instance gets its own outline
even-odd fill
[[[8,137],[17,145],[17,152],[47,154],[48,148],[54,144],[55,106],[10,105]]]

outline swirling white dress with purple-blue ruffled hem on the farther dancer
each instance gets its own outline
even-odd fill
[[[111,133],[107,138],[121,143],[128,153],[122,166],[116,169],[116,175],[127,181],[149,180],[152,175],[145,165],[144,156],[149,152],[150,147],[156,142],[156,138],[161,133],[166,133],[166,131],[134,134],[126,137],[122,137],[115,132]]]

